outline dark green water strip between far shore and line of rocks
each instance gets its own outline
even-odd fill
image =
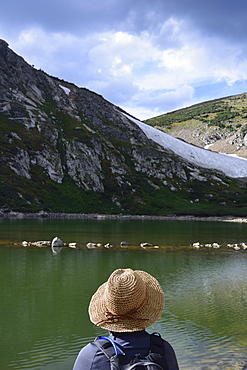
[[[146,221],[146,220],[3,220],[0,219],[1,240],[52,240],[55,236],[64,242],[88,242],[132,245],[150,242],[160,246],[188,246],[202,244],[246,242],[247,223],[200,221]]]

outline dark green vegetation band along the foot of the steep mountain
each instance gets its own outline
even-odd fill
[[[109,177],[107,163],[104,174],[105,192],[95,193],[78,188],[69,176],[57,184],[39,166],[32,166],[32,177],[27,179],[1,164],[0,204],[19,212],[246,215],[247,190],[233,180],[226,183],[222,178],[224,185],[218,175],[219,180],[209,180],[211,184],[198,180],[181,183],[173,178],[170,185],[165,186],[157,179],[133,172],[131,186],[127,177],[119,186]],[[113,194],[121,206],[113,202]]]

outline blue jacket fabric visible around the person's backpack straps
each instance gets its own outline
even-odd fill
[[[133,333],[110,332],[109,337],[123,347],[124,352],[130,357],[135,357],[136,354],[140,354],[141,357],[148,355],[150,334],[145,330]],[[172,346],[165,340],[164,346],[169,370],[179,370]],[[94,343],[89,343],[78,354],[73,370],[110,370],[110,362]]]

